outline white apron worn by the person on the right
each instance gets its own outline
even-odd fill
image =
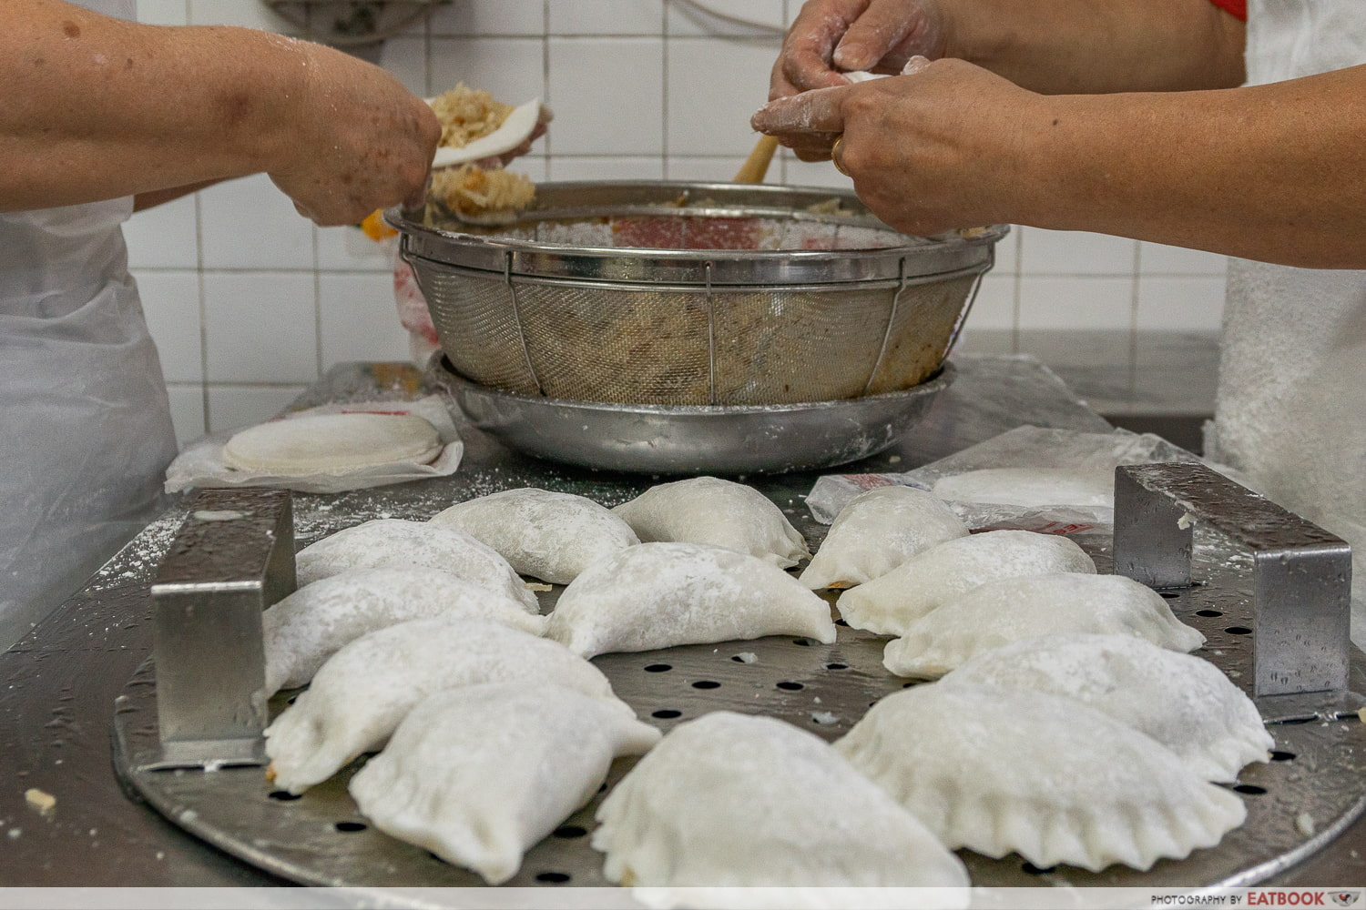
[[[1362,0],[1250,0],[1249,85],[1363,63]],[[1366,647],[1366,271],[1229,259],[1206,453],[1352,544]]]

